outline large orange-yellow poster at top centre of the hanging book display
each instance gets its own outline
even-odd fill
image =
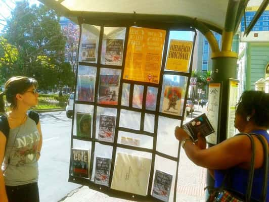
[[[123,79],[159,83],[165,30],[130,27]]]

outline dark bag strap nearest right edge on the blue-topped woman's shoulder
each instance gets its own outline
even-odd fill
[[[264,162],[262,165],[263,168],[263,182],[262,182],[262,189],[261,189],[261,195],[260,195],[260,201],[265,201],[266,198],[266,191],[267,191],[267,186],[268,186],[268,158],[269,158],[269,154],[268,154],[268,143],[265,142],[265,140],[258,134],[255,133],[249,133],[251,135],[255,135],[258,140],[261,142],[262,147],[263,147],[263,158],[264,158]]]

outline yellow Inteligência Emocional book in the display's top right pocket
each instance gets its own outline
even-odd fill
[[[192,46],[192,41],[171,39],[165,69],[187,72]]]

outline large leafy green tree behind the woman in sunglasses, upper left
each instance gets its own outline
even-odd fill
[[[45,90],[62,82],[66,37],[55,11],[43,5],[30,7],[25,0],[16,2],[4,31],[7,42],[18,50],[10,75],[35,77]]]

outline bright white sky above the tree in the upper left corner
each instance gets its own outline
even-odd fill
[[[9,18],[11,15],[12,9],[15,7],[15,3],[19,0],[0,0],[0,33],[2,32],[5,21],[2,21],[5,18]],[[40,2],[37,0],[28,0],[30,5],[36,4],[39,5]]]

